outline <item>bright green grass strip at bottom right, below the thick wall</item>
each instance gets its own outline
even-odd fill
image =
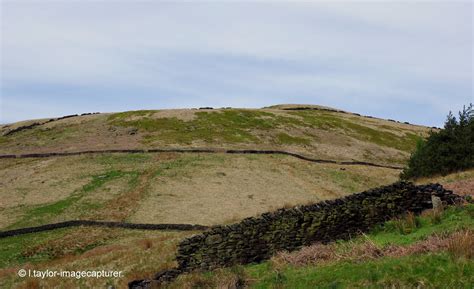
[[[470,288],[474,262],[438,253],[281,271],[264,263],[249,266],[247,272],[256,280],[250,288]]]

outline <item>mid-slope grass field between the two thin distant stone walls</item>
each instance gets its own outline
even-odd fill
[[[12,229],[71,219],[227,223],[389,184],[398,170],[160,153],[5,160],[0,176],[0,228]]]

